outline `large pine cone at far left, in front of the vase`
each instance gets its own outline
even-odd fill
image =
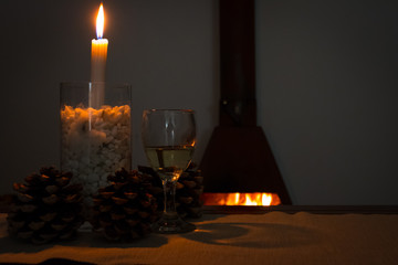
[[[25,183],[14,183],[9,233],[35,244],[71,239],[83,223],[82,187],[69,186],[71,172],[54,167],[28,176]]]

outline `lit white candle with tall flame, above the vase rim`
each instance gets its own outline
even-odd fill
[[[105,82],[105,67],[108,41],[103,39],[104,33],[104,8],[101,3],[96,19],[97,40],[92,40],[92,82]]]

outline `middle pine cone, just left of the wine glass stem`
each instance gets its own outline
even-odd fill
[[[107,179],[111,184],[93,197],[93,230],[111,241],[130,241],[151,232],[150,224],[157,219],[151,179],[125,169]]]

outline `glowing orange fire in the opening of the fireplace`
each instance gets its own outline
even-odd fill
[[[205,205],[247,205],[269,206],[279,205],[281,200],[276,193],[203,193]]]

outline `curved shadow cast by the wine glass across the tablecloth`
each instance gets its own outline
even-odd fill
[[[193,233],[181,236],[206,244],[255,248],[311,245],[321,241],[316,231],[277,223],[198,224]]]

